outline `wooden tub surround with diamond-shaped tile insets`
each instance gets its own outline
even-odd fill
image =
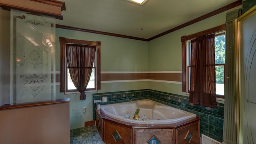
[[[200,144],[199,117],[174,124],[148,125],[115,120],[96,110],[95,118],[106,144]]]

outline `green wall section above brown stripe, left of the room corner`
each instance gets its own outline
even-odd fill
[[[56,63],[59,37],[101,41],[101,71],[148,71],[148,42],[56,28]],[[56,70],[60,70],[59,65]]]

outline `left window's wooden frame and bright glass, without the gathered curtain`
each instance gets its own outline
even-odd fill
[[[101,42],[92,42],[84,40],[72,40],[60,37],[60,92],[78,92],[74,86],[69,72],[69,66],[66,59],[66,44],[78,44],[96,46],[95,59],[93,62],[90,80],[86,91],[100,90],[100,46]]]

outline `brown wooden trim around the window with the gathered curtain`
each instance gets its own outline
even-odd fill
[[[100,90],[100,41],[86,41],[86,40],[74,40],[69,38],[60,37],[60,92],[66,92],[65,79],[66,79],[66,69],[65,69],[65,46],[66,43],[72,44],[86,44],[96,46],[96,90]]]

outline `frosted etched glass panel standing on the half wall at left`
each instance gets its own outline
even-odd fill
[[[11,10],[11,104],[55,100],[55,18]]]

